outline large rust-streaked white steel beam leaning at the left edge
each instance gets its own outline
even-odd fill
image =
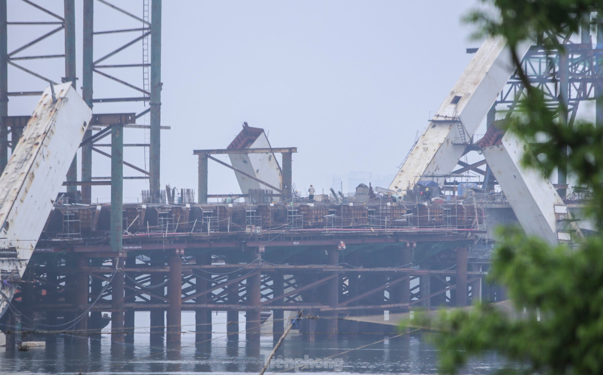
[[[0,176],[0,248],[17,251],[17,259],[0,258],[2,277],[23,276],[92,116],[71,83],[54,90],[57,101],[48,87]],[[0,297],[0,315],[6,307]]]

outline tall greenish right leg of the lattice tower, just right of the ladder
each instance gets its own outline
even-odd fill
[[[159,202],[161,149],[161,0],[151,0],[151,146],[150,193]]]

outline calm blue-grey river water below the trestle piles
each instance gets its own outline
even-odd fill
[[[148,312],[136,313],[139,328],[134,333],[134,344],[111,345],[110,335],[101,335],[87,343],[63,335],[46,347],[0,353],[0,374],[257,374],[275,344],[272,336],[262,336],[259,343],[246,342],[244,334],[238,340],[227,339],[226,314],[221,312],[213,316],[212,341],[203,344],[195,344],[195,333],[188,332],[195,330],[194,313],[183,312],[182,330],[186,333],[182,335],[180,348],[166,347],[162,342],[151,344],[148,329],[144,328],[148,322]],[[240,330],[244,330],[244,315],[240,323]],[[313,368],[298,371],[312,373],[437,373],[437,350],[425,336],[400,336],[353,350],[383,338],[383,335],[339,335],[333,340],[318,337],[316,342],[309,343],[301,335],[289,335],[267,373],[302,364]],[[348,350],[352,351],[339,354]],[[333,358],[326,359],[329,356]],[[461,373],[490,374],[503,364],[499,356],[485,353]]]

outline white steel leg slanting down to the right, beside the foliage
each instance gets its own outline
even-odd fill
[[[551,180],[540,171],[521,165],[526,147],[522,139],[507,132],[500,145],[486,147],[482,153],[523,230],[555,244],[558,241],[555,210],[560,210],[564,203]]]

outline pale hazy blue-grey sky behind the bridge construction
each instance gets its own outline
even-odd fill
[[[80,55],[82,12],[81,2],[76,2]],[[140,0],[113,2],[136,14],[142,8]],[[63,14],[62,1],[48,3]],[[317,192],[326,191],[334,175],[345,180],[350,172],[365,173],[367,183],[369,172],[373,178],[391,181],[415,134],[426,126],[430,112],[437,110],[472,57],[465,48],[479,46],[469,38],[473,27],[461,22],[476,4],[164,0],[162,125],[171,130],[162,131],[162,186],[197,189],[192,150],[226,148],[244,121],[269,131],[273,147],[298,148],[293,159],[298,190],[312,183]],[[16,1],[9,1],[8,14],[9,21],[49,20]],[[95,2],[95,31],[130,27],[140,23]],[[9,28],[9,51],[51,30]],[[95,58],[137,35],[95,36]],[[57,53],[62,48],[63,34],[57,33],[20,55]],[[134,45],[107,63],[139,62],[141,54],[141,46]],[[63,60],[46,61],[40,69],[60,80]],[[77,65],[80,90],[80,57]],[[109,73],[134,84],[142,82],[140,69]],[[10,91],[47,86],[12,67],[9,77]],[[96,98],[138,95],[98,75],[95,80]],[[11,98],[9,114],[30,114],[36,101]],[[143,109],[140,103],[94,107],[97,113]],[[126,135],[125,142],[148,141],[144,131]],[[140,149],[128,150],[125,158],[145,164]],[[95,156],[93,162],[96,176],[110,174],[109,159]],[[139,175],[129,168],[124,174]],[[146,182],[127,181],[124,197],[136,201],[145,188]],[[233,172],[210,161],[210,194],[238,191]],[[109,188],[93,188],[93,197],[108,201]]]

